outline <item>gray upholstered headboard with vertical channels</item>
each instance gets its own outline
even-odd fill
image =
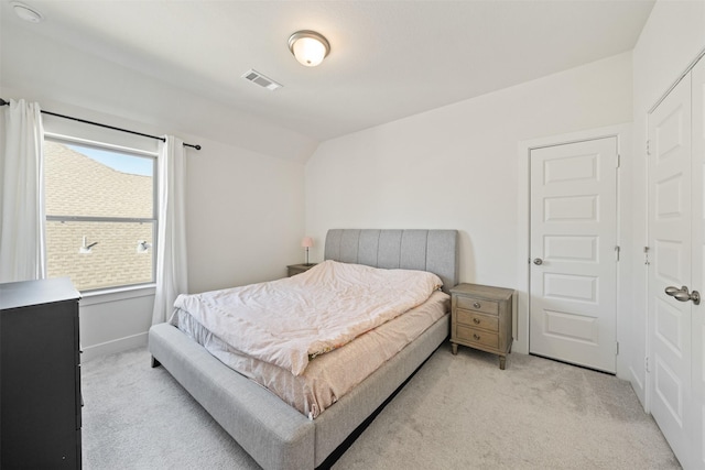
[[[330,229],[324,259],[436,274],[448,292],[458,283],[457,230]]]

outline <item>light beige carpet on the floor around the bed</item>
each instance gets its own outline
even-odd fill
[[[83,365],[85,469],[258,469],[144,349]],[[679,469],[629,383],[441,347],[334,469]]]

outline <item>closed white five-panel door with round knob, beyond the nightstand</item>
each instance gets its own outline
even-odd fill
[[[617,364],[617,138],[530,154],[529,351],[606,372]]]

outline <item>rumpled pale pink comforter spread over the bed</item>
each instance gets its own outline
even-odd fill
[[[421,305],[441,287],[423,271],[325,261],[279,281],[195,295],[174,307],[232,348],[300,375],[308,359]]]

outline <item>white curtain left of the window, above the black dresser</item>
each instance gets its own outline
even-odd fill
[[[46,277],[44,129],[36,102],[10,100],[0,125],[0,282]]]

